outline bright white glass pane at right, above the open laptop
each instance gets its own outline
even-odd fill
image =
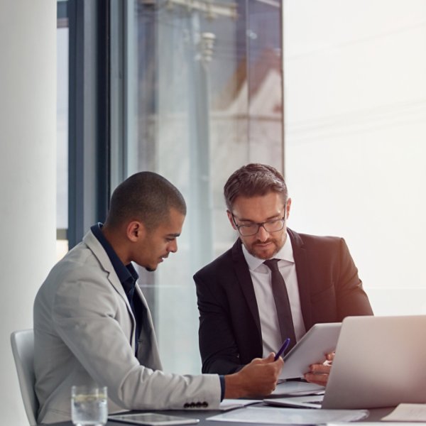
[[[426,313],[426,3],[285,0],[290,226],[344,236],[376,314]]]

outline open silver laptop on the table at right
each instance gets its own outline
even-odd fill
[[[346,317],[324,395],[269,398],[301,408],[426,403],[426,315]]]

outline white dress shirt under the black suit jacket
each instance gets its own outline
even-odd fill
[[[261,332],[263,340],[263,357],[271,352],[277,352],[283,342],[281,341],[280,326],[278,324],[277,309],[273,300],[271,286],[271,270],[263,262],[263,259],[252,256],[243,244],[243,253],[249,265],[251,280],[253,281],[254,293],[258,305],[259,317],[261,319]],[[297,285],[297,274],[293,246],[290,236],[287,234],[284,246],[273,256],[278,258],[278,269],[283,275],[285,286],[290,299],[291,315],[295,327],[297,341],[306,333],[300,307],[299,288]]]

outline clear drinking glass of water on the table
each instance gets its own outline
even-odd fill
[[[106,387],[72,386],[71,418],[76,426],[103,426],[107,417]]]

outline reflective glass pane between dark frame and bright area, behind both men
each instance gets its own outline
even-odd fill
[[[128,173],[164,175],[188,207],[179,252],[155,274],[141,271],[168,371],[200,372],[192,275],[236,239],[226,179],[251,161],[283,165],[281,13],[269,0],[135,3]]]

